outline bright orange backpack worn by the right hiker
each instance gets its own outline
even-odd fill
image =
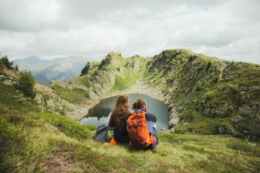
[[[130,145],[136,148],[145,148],[155,140],[154,135],[149,135],[146,119],[146,112],[135,113],[127,119],[127,131],[130,139]]]

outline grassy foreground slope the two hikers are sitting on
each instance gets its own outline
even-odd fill
[[[259,172],[259,142],[227,135],[158,133],[153,151],[92,140],[96,126],[0,107],[1,172]],[[110,136],[110,135],[109,135]],[[111,138],[111,137],[110,137]]]

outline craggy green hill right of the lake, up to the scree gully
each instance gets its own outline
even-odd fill
[[[155,55],[146,69],[145,84],[152,92],[159,88],[169,102],[170,119],[178,123],[168,127],[175,133],[259,137],[259,65],[170,49]]]

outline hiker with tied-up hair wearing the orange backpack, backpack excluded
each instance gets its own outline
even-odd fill
[[[146,106],[146,101],[143,98],[137,99],[133,104],[132,104],[132,109],[135,111],[135,113],[145,113],[145,119],[149,131],[149,136],[154,135],[155,140],[153,143],[145,147],[144,149],[153,149],[155,146],[158,144],[158,138],[157,138],[157,128],[156,128],[156,121],[157,118],[155,117],[154,114],[147,113],[147,106]],[[118,129],[118,132],[115,133],[113,136],[112,140],[110,143],[105,143],[104,145],[114,145],[117,144],[118,142],[121,141],[121,139],[128,134],[127,132],[127,119],[131,116],[128,115],[125,119],[123,119],[120,128]]]

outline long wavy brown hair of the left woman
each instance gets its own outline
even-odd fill
[[[116,99],[115,107],[112,111],[112,114],[116,116],[116,122],[118,124],[121,124],[123,119],[125,118],[125,103],[129,100],[128,95],[118,95]]]

